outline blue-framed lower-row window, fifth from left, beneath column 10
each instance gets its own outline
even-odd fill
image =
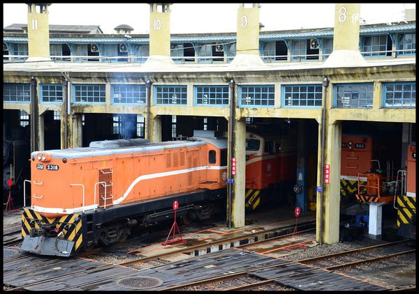
[[[155,86],[156,105],[186,105],[186,86]]]

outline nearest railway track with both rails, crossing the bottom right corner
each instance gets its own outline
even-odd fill
[[[299,261],[289,261],[286,263],[281,263],[279,265],[270,265],[263,268],[253,268],[252,270],[249,270],[249,271],[237,272],[233,274],[223,274],[223,276],[220,276],[220,277],[213,277],[210,279],[203,279],[203,280],[196,281],[193,283],[185,283],[182,285],[166,287],[161,290],[164,290],[164,291],[167,291],[167,290],[184,290],[184,291],[188,291],[188,290],[195,290],[195,291],[196,290],[203,290],[203,291],[205,290],[226,290],[226,291],[227,290],[251,290],[255,288],[278,284],[278,283],[281,284],[280,281],[284,281],[284,278],[286,278],[286,280],[304,279],[304,277],[309,277],[309,276],[312,277],[314,274],[321,273],[325,270],[335,271],[341,268],[359,265],[361,263],[372,263],[375,261],[380,261],[383,259],[389,259],[396,256],[400,256],[402,254],[409,254],[411,252],[416,252],[416,249],[408,249],[408,250],[399,250],[399,252],[395,252],[393,254],[384,254],[384,255],[378,254],[378,256],[369,257],[369,258],[365,258],[365,255],[361,255],[355,258],[357,259],[356,261],[348,261],[347,259],[342,258],[345,256],[346,258],[348,258],[348,256],[352,256],[353,258],[354,254],[360,254],[360,252],[371,253],[371,252],[377,251],[378,249],[383,249],[385,247],[397,247],[406,242],[409,242],[409,241],[385,243],[383,245],[363,247],[363,248],[353,249],[346,252],[328,254],[328,255],[318,256],[314,258],[305,258]],[[320,261],[326,261],[326,260],[330,261],[332,259],[334,259],[336,263],[335,265],[323,266],[323,267],[318,267],[314,265],[315,263],[318,263]],[[300,265],[300,264],[309,265],[309,266],[305,268],[302,268],[301,266],[299,266],[298,268],[291,270],[291,267],[290,267],[291,265]],[[281,269],[283,269],[283,272],[281,272]],[[287,274],[287,272],[290,272],[293,270],[297,272]],[[269,276],[268,272],[275,272],[275,274],[280,275],[280,279],[279,277],[275,277],[273,279],[262,280],[261,277],[263,277],[264,274],[261,275],[260,272],[263,272],[263,271],[265,271],[265,277]],[[251,277],[255,278],[256,273],[258,273],[258,275],[256,275],[256,277],[258,277],[258,281],[252,281]],[[240,281],[244,285],[228,287],[228,285],[237,284],[237,281]],[[297,288],[297,290],[301,290],[301,289]]]

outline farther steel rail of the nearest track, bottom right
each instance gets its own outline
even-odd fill
[[[254,268],[254,269],[251,269],[251,270],[244,270],[242,272],[235,272],[234,274],[226,274],[226,275],[223,275],[222,277],[214,277],[214,278],[210,278],[210,279],[203,279],[203,280],[200,280],[200,281],[191,282],[191,283],[188,283],[188,284],[172,286],[172,287],[169,287],[169,288],[165,288],[163,290],[165,290],[165,291],[166,290],[175,290],[175,289],[178,289],[178,288],[196,286],[196,285],[199,285],[199,284],[208,284],[208,283],[211,283],[213,281],[230,279],[230,278],[235,278],[235,277],[241,277],[243,275],[248,274],[249,272],[256,272],[258,270],[266,270],[268,268],[280,268],[284,265],[290,265],[290,264],[293,264],[293,263],[307,263],[307,262],[310,262],[310,261],[316,261],[318,259],[330,258],[330,257],[344,255],[344,254],[353,254],[353,253],[367,251],[367,250],[371,250],[371,249],[377,249],[377,248],[380,248],[380,247],[398,245],[399,243],[403,243],[403,242],[409,242],[409,240],[402,240],[402,241],[397,241],[397,242],[389,242],[389,243],[385,243],[385,244],[381,244],[381,245],[362,247],[362,248],[358,248],[358,249],[349,250],[349,251],[346,251],[346,252],[337,252],[335,254],[325,254],[323,256],[301,259],[299,261],[288,261],[286,263],[281,263],[281,264],[277,264],[277,265],[267,265],[267,266],[261,267],[261,268]]]

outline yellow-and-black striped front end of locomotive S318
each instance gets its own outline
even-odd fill
[[[47,218],[29,208],[22,212],[22,237],[30,235],[31,229],[40,229],[44,224],[55,224],[57,233],[64,235],[61,239],[74,242],[75,252],[80,249],[83,242],[82,219],[80,215],[64,215],[63,217]]]

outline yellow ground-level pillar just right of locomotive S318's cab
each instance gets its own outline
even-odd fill
[[[234,228],[244,226],[244,196],[246,194],[246,121],[236,121],[234,127],[234,157],[236,174],[233,176],[231,224]]]

